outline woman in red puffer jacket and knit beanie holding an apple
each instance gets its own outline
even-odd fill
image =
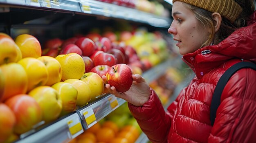
[[[167,111],[140,75],[132,75],[127,92],[109,84],[106,88],[128,101],[153,143],[255,143],[255,70],[241,69],[229,79],[213,126],[210,122],[211,99],[221,75],[238,62],[256,62],[253,0],[173,0],[172,15],[168,32],[196,76]]]

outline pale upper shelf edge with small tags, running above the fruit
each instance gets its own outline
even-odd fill
[[[0,0],[0,4],[74,14],[100,15],[167,28],[170,18],[97,0]]]

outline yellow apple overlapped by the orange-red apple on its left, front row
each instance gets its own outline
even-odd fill
[[[42,112],[43,121],[49,123],[58,118],[62,110],[62,101],[58,92],[50,86],[39,86],[29,92],[36,99]]]

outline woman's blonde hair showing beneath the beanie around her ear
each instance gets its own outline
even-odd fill
[[[249,20],[249,15],[251,15],[255,9],[254,0],[237,1],[241,4],[243,8],[242,13],[238,16],[238,18],[236,18],[233,23],[231,23],[229,20],[222,16],[220,29],[216,33],[214,29],[212,12],[183,2],[184,6],[188,7],[195,14],[195,18],[198,20],[198,26],[200,28],[206,29],[207,27],[209,27],[211,29],[207,40],[201,45],[200,48],[209,46],[211,44],[218,44],[222,40],[226,39],[236,29],[247,26],[246,21]]]

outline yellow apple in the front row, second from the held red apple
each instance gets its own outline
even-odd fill
[[[79,79],[67,79],[65,82],[72,84],[77,90],[76,105],[81,107],[91,100],[91,89],[85,82]]]

